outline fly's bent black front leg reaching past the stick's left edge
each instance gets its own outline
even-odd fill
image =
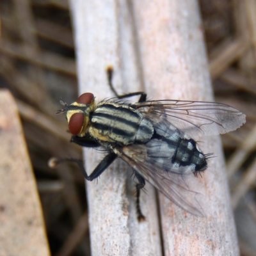
[[[86,180],[94,180],[99,177],[99,175],[108,168],[108,166],[113,163],[113,161],[116,159],[117,155],[115,153],[109,153],[107,156],[102,159],[102,161],[98,164],[98,166],[93,170],[93,172],[90,175],[87,175],[86,170],[84,169],[84,164],[83,161],[80,159],[74,159],[74,158],[60,158],[57,159],[55,157],[51,158],[48,162],[48,165],[51,168],[54,168],[57,166],[57,164],[62,163],[62,162],[71,162],[71,163],[76,163],[80,167],[80,169],[83,172],[84,178]]]

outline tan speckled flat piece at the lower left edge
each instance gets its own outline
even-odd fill
[[[0,255],[49,256],[40,198],[10,92],[0,91]]]

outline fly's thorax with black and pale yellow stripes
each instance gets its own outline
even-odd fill
[[[102,102],[90,116],[89,132],[97,140],[129,145],[150,140],[154,128],[138,110]]]

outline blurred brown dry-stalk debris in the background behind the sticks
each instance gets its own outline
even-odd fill
[[[221,138],[241,255],[256,255],[256,1],[199,4],[216,101],[247,116],[242,129]],[[65,118],[55,115],[60,100],[77,99],[68,1],[1,0],[0,15],[0,87],[19,107],[52,255],[90,255],[83,174],[47,166],[52,156],[82,157]]]

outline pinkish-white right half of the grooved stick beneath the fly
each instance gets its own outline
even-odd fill
[[[134,1],[134,13],[146,91],[154,99],[212,100],[196,1]],[[239,255],[220,138],[198,143],[217,156],[196,187],[207,217],[188,214],[161,195],[164,255]]]

